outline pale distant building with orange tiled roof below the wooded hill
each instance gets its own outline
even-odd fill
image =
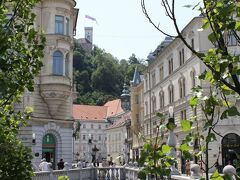
[[[121,100],[109,101],[103,106],[73,105],[73,117],[79,121],[80,131],[74,141],[74,160],[91,161],[96,145],[96,158],[107,158],[107,129],[115,117],[122,114]],[[90,140],[90,141],[89,141]]]

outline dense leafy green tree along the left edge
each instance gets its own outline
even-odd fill
[[[0,179],[31,179],[31,150],[17,138],[31,108],[16,112],[25,89],[33,91],[42,66],[44,37],[34,29],[39,0],[4,0],[0,8]]]

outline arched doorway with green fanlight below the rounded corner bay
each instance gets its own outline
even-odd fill
[[[42,141],[42,158],[45,158],[47,162],[51,162],[53,169],[56,164],[56,143],[55,137],[52,134],[46,134]]]

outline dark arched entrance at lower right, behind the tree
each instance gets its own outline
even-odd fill
[[[234,133],[227,134],[222,139],[222,165],[236,166],[237,155],[240,155],[240,136]]]

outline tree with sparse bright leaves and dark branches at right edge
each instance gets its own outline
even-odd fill
[[[203,128],[199,130],[199,132],[194,133],[190,128],[193,124],[196,125],[197,122],[194,122],[194,118],[185,120],[182,123],[183,129],[188,129],[190,133],[186,136],[181,150],[188,152],[188,141],[202,140],[204,142],[200,154],[202,152],[206,153],[206,179],[209,179],[208,170],[210,167],[208,163],[208,146],[211,142],[216,140],[216,136],[221,136],[214,128],[219,119],[240,115],[234,103],[231,103],[233,100],[231,97],[233,97],[233,95],[237,99],[239,99],[240,95],[240,81],[238,78],[240,74],[240,60],[239,55],[228,48],[230,38],[240,43],[240,3],[238,0],[201,0],[197,5],[185,6],[198,9],[203,18],[202,30],[207,31],[210,29],[208,40],[212,43],[213,48],[209,49],[207,53],[197,52],[191,44],[186,41],[184,35],[181,34],[176,20],[175,3],[175,0],[161,0],[161,4],[165,10],[164,13],[169,17],[170,22],[176,30],[176,35],[172,35],[153,22],[147,12],[145,0],[141,0],[143,12],[149,22],[164,35],[179,38],[208,68],[199,78],[210,83],[212,87],[211,91],[205,92],[208,94],[203,95],[200,93],[202,92],[202,88],[198,87],[194,89],[195,96],[193,96],[190,101],[190,105],[193,108],[196,107],[196,102],[201,104],[201,109],[204,113]],[[236,99],[234,99],[234,101],[235,100]],[[221,109],[221,111],[219,111],[219,109]],[[202,130],[205,131],[205,135]],[[218,174],[214,173],[214,177],[212,178],[216,177],[218,177]],[[218,178],[221,179],[221,177]]]

